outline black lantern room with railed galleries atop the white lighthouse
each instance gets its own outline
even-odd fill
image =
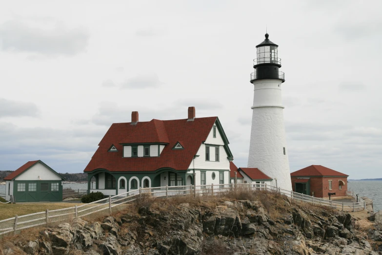
[[[251,83],[261,79],[280,79],[285,82],[284,73],[279,71],[281,59],[278,58],[279,45],[272,43],[265,34],[264,42],[256,46],[256,59],[253,60],[255,72],[251,73]]]

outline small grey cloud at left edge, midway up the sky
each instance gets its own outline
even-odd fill
[[[37,117],[39,116],[39,108],[34,103],[0,98],[0,118],[22,116]]]

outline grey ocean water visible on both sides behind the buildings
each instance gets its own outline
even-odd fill
[[[382,181],[349,181],[348,190],[354,191],[360,196],[367,196],[373,199],[374,211],[382,210]],[[87,190],[86,183],[64,183],[63,188],[73,190]],[[0,185],[0,193],[5,193],[5,185]]]

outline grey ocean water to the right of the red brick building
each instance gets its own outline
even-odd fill
[[[382,210],[382,181],[349,181],[347,189],[373,199],[374,212]]]

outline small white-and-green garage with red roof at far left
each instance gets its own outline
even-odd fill
[[[5,199],[14,196],[16,202],[59,202],[63,180],[64,177],[41,160],[29,161],[4,178]]]

